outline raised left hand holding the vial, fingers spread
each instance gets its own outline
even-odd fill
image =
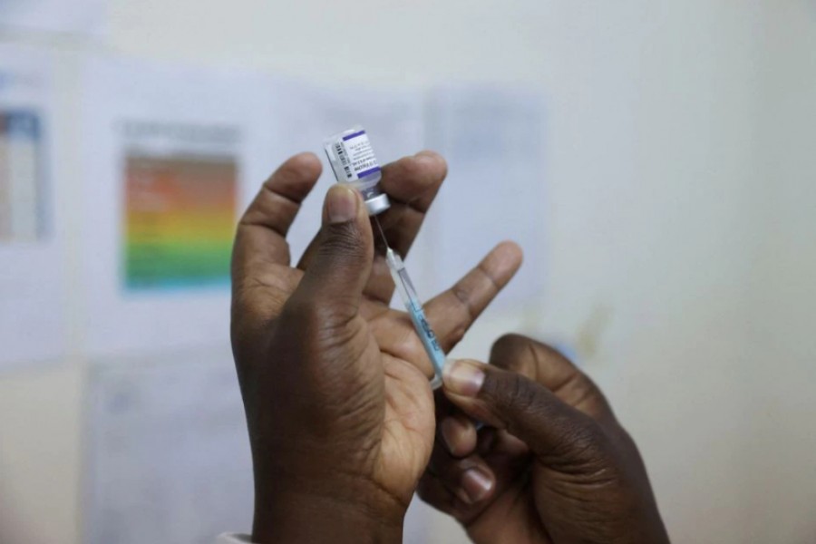
[[[389,245],[410,248],[445,176],[431,152],[383,169]],[[287,160],[238,226],[232,345],[256,481],[253,540],[401,539],[431,454],[432,366],[409,317],[389,309],[393,282],[358,193],[335,185],[323,227],[297,267],[287,229],[320,175],[312,154]],[[426,315],[450,350],[520,266],[495,248]]]

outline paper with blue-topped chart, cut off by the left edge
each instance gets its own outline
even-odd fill
[[[53,84],[47,55],[0,47],[0,367],[65,349]]]

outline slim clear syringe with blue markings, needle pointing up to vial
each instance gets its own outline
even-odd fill
[[[403,299],[403,305],[408,311],[408,315],[411,316],[413,328],[423,343],[425,353],[428,355],[428,358],[431,359],[434,374],[431,381],[431,388],[435,391],[442,385],[442,367],[445,365],[445,352],[442,351],[442,346],[439,345],[439,341],[436,339],[436,335],[433,334],[431,325],[425,318],[423,303],[416,294],[416,289],[413,287],[411,277],[408,277],[408,270],[405,269],[403,258],[392,248],[388,247],[388,241],[385,239],[383,227],[380,226],[380,221],[376,217],[374,217],[374,222],[377,224],[377,228],[379,228],[385,243],[385,262],[391,271],[393,283],[396,286],[397,292],[400,294],[400,298]]]

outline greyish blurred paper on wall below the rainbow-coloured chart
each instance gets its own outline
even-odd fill
[[[228,350],[118,363],[94,365],[89,384],[84,541],[248,532],[252,461]]]

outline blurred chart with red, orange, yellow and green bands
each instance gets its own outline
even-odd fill
[[[122,287],[228,286],[238,131],[129,122],[125,133]]]

